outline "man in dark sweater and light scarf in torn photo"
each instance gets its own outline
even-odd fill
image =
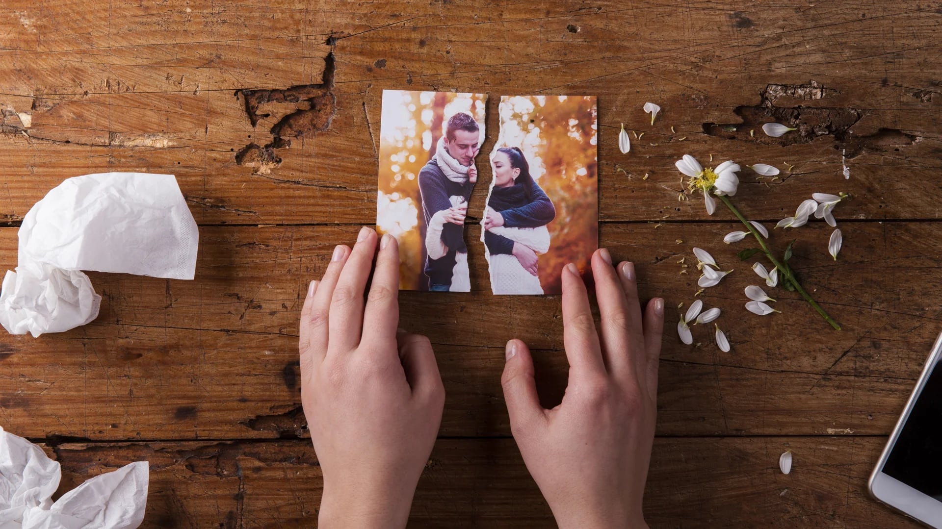
[[[445,136],[418,173],[426,223],[425,275],[433,292],[468,292],[464,216],[471,189],[478,181],[474,158],[480,149],[480,127],[466,112],[448,118]]]

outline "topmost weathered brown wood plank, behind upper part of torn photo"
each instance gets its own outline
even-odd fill
[[[922,200],[940,191],[933,175],[942,168],[942,98],[929,51],[939,22],[910,4],[858,13],[848,2],[762,9],[727,2],[715,12],[653,3],[574,11],[551,2],[534,18],[507,6],[449,5],[446,15],[408,3],[221,11],[171,3],[68,13],[62,18],[73,31],[59,28],[48,40],[37,36],[53,22],[36,14],[47,8],[23,3],[20,14],[0,23],[8,30],[0,73],[9,73],[0,75],[0,104],[29,113],[32,125],[14,114],[4,120],[0,156],[11,168],[0,216],[22,218],[69,176],[125,169],[177,174],[201,223],[369,222],[382,88],[484,87],[599,96],[605,220],[706,218],[697,200],[676,200],[673,162],[683,153],[793,165],[784,182],[769,187],[743,171],[742,207],[755,218],[786,216],[797,197],[822,190],[859,198],[838,209],[840,218],[939,218]],[[220,18],[229,24],[207,22]],[[105,19],[125,31],[106,32],[98,24]],[[893,34],[892,45],[884,38],[890,24],[907,27]],[[633,28],[630,36],[625,27]],[[693,39],[707,28],[712,40]],[[200,39],[187,30],[198,30]],[[473,39],[455,37],[469,31]],[[825,38],[822,31],[832,33]],[[542,45],[530,45],[534,32]],[[809,49],[812,37],[828,45]],[[339,58],[328,67],[331,53]],[[38,57],[42,67],[34,66]],[[304,98],[247,114],[246,89],[284,96],[286,88],[321,83],[336,97],[321,104],[329,127],[308,120]],[[641,111],[645,100],[664,107],[654,126]],[[300,122],[274,134],[289,116]],[[782,138],[749,134],[772,119],[803,128]],[[615,148],[620,122],[647,135],[629,155]],[[290,147],[279,148],[279,139]],[[487,165],[483,157],[480,165]],[[482,182],[489,170],[481,168]],[[472,212],[485,193],[478,186]]]

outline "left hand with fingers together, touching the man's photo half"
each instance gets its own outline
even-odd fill
[[[324,478],[319,527],[405,527],[445,389],[425,336],[397,331],[399,258],[376,232],[334,248],[300,314],[301,404]]]

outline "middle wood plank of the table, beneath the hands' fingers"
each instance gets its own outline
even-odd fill
[[[782,314],[746,313],[741,294],[758,278],[720,242],[723,224],[605,225],[602,245],[638,263],[642,297],[668,301],[662,352],[662,435],[886,434],[938,332],[937,308],[919,292],[937,286],[942,241],[934,222],[847,223],[836,263],[830,229],[793,232],[793,265],[844,324],[833,331],[804,301],[779,289]],[[300,295],[348,227],[203,228],[197,279],[94,274],[102,315],[83,329],[5,340],[0,378],[7,420],[31,437],[92,440],[235,439],[304,435],[296,336]],[[15,229],[0,230],[12,264]],[[780,235],[779,235],[780,236]],[[682,238],[684,243],[665,246]],[[813,244],[812,244],[813,243]],[[703,299],[733,351],[708,329],[680,344],[674,307],[690,303],[696,273],[681,275],[690,247],[711,248],[735,268]],[[919,248],[913,255],[911,248]],[[907,266],[898,266],[906,258]],[[547,395],[565,385],[559,297],[486,294],[485,264],[472,248],[470,294],[401,293],[402,325],[430,336],[446,380],[442,435],[509,432],[499,376],[514,336],[537,352]],[[484,292],[481,292],[484,290]],[[430,310],[433,308],[433,310]],[[81,410],[63,413],[63,409]]]

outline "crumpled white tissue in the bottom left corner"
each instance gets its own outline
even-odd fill
[[[0,529],[135,529],[144,520],[150,466],[97,475],[56,503],[59,464],[0,427]]]

